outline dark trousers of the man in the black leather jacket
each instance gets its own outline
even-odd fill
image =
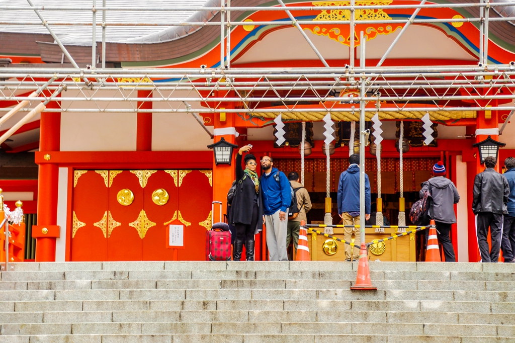
[[[492,238],[492,248],[488,246],[488,227]],[[497,262],[501,250],[503,235],[503,215],[492,212],[479,212],[476,214],[476,235],[481,262]],[[490,252],[488,251],[490,250]]]

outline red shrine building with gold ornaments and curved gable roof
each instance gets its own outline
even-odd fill
[[[60,6],[56,1],[42,3]],[[179,3],[220,7],[215,0]],[[499,171],[504,159],[515,155],[515,126],[509,123],[515,98],[515,26],[502,20],[507,8],[489,9],[492,20],[485,35],[484,21],[474,20],[484,18],[479,7],[424,7],[409,22],[415,11],[409,6],[420,2],[356,0],[355,18],[349,24],[345,21],[350,20],[351,10],[337,7],[349,6],[350,1],[285,4],[296,20],[310,23],[291,25],[286,11],[266,10],[280,7],[277,2],[265,0],[232,0],[225,6],[261,10],[235,9],[230,14],[166,12],[174,13],[176,22],[193,22],[190,26],[123,26],[137,20],[136,14],[147,24],[169,19],[156,11],[116,15],[107,11],[107,38],[102,42],[98,25],[93,60],[91,25],[50,24],[59,44],[42,25],[0,25],[0,116],[55,75],[47,89],[0,127],[0,135],[15,129],[1,145],[0,188],[5,203],[14,208],[14,202],[22,200],[27,218],[37,214],[37,223],[26,223],[34,224],[29,236],[36,239],[35,256],[25,253],[26,259],[204,260],[205,231],[212,220],[220,220],[212,202],[222,202],[223,220],[235,178],[237,149],[228,150],[232,163],[226,164],[216,163],[208,148],[222,139],[237,146],[252,144],[258,159],[272,157],[274,166],[286,174],[300,175],[303,167],[304,186],[313,202],[308,222],[323,222],[329,188],[338,224],[338,176],[348,166],[349,146],[359,151],[354,140],[359,140],[356,79],[360,76],[353,73],[363,58],[366,68],[374,70],[381,61],[385,74],[398,73],[382,77],[374,70],[366,90],[366,128],[371,128],[370,119],[377,113],[383,131],[381,175],[377,175],[372,135],[371,144],[364,147],[375,208],[380,179],[383,214],[397,225],[399,211],[404,206],[409,213],[419,198],[420,183],[431,177],[436,162],[443,161],[461,196],[451,233],[457,261],[479,261],[471,202],[473,179],[483,165],[473,144],[489,136],[505,144],[498,154]],[[359,9],[363,6],[382,8]],[[3,12],[0,21],[9,21],[13,11]],[[59,11],[40,12],[59,22]],[[20,22],[39,20],[33,12],[16,13]],[[84,19],[77,21],[91,23],[91,11],[84,13]],[[96,16],[101,23],[100,11]],[[290,23],[277,24],[285,21]],[[116,23],[121,24],[109,26]],[[220,23],[224,23],[222,33]],[[220,60],[224,67],[220,68]],[[18,125],[62,85],[66,89],[50,99],[44,111]],[[322,121],[328,113],[335,130],[329,178]],[[428,145],[423,143],[421,121],[426,114],[434,130]],[[278,115],[286,140],[281,146],[274,135]],[[184,227],[178,245],[171,245],[170,224]],[[264,234],[266,230],[256,236],[256,260],[266,259]],[[316,236],[312,239],[315,242]],[[406,243],[410,252],[397,257],[388,252],[401,249],[399,238],[399,248],[387,246],[390,257],[385,260],[420,260],[421,237],[403,239],[414,241]],[[380,255],[371,258],[383,260]]]

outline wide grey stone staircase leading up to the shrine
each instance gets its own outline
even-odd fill
[[[18,263],[4,342],[515,342],[515,264]]]

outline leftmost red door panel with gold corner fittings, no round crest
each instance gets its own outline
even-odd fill
[[[107,170],[74,170],[72,261],[106,261]]]

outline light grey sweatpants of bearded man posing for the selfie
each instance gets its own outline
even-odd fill
[[[286,251],[286,233],[288,231],[288,210],[286,210],[286,219],[279,220],[279,212],[271,215],[265,215],[266,225],[266,245],[268,246],[269,261],[288,261],[288,253]]]

